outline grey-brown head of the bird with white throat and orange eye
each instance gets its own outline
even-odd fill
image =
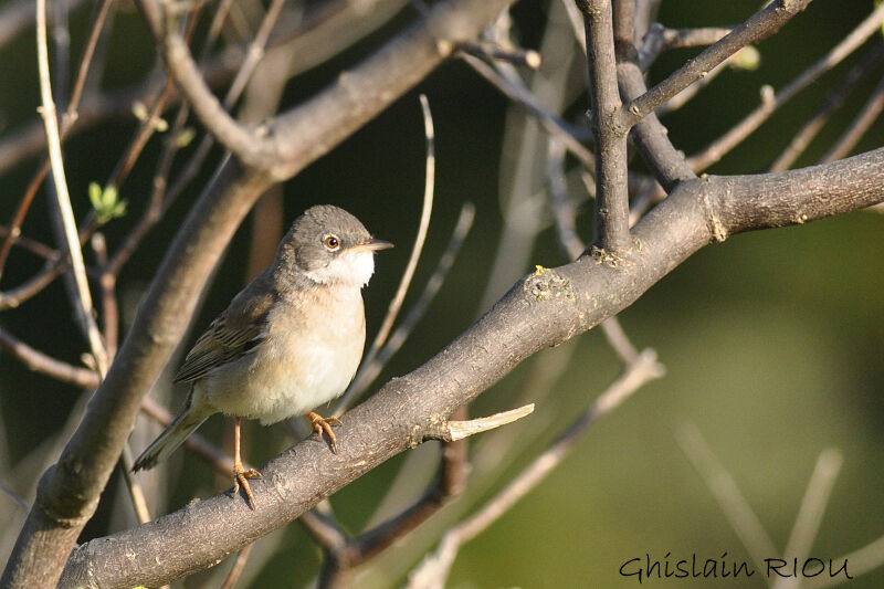
[[[368,284],[375,252],[392,248],[376,240],[344,209],[316,204],[298,217],[276,250],[282,267],[318,284]]]

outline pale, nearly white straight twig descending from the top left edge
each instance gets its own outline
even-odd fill
[[[92,295],[90,294],[88,281],[86,280],[86,269],[83,263],[83,252],[80,250],[80,238],[74,221],[74,211],[71,208],[71,197],[67,193],[67,181],[64,177],[64,161],[62,159],[61,138],[59,137],[57,119],[55,117],[55,103],[52,101],[52,86],[49,74],[49,51],[46,48],[46,2],[36,0],[36,53],[40,70],[40,94],[42,97],[41,115],[46,129],[46,143],[49,145],[50,161],[52,165],[52,176],[55,181],[55,196],[59,200],[62,219],[64,220],[65,236],[67,249],[71,255],[74,278],[80,296],[77,308],[81,323],[88,337],[92,354],[95,357],[98,372],[107,372],[107,354],[102,343],[98,326],[92,316]]]

